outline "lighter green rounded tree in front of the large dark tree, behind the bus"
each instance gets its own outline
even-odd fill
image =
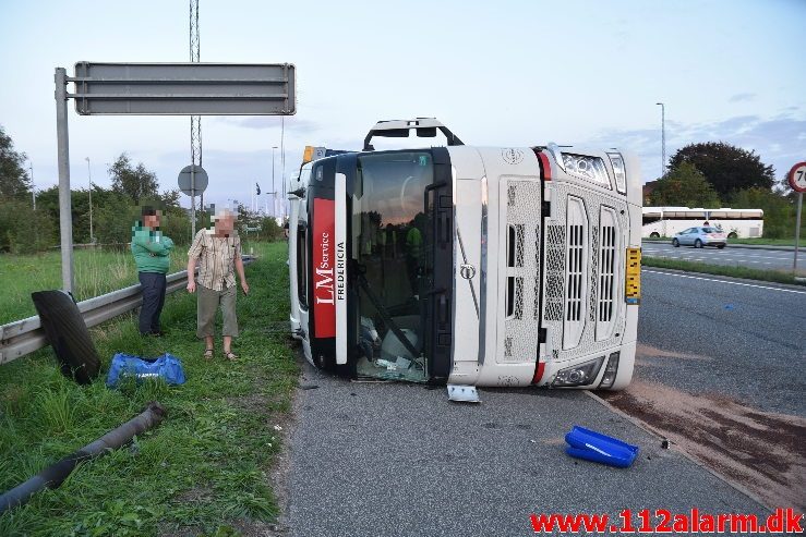
[[[683,162],[654,182],[649,195],[653,206],[681,206],[715,208],[720,206],[719,196],[711,184],[694,164]]]

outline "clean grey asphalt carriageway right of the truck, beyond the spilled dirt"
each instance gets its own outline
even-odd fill
[[[806,417],[806,288],[655,269],[641,277],[639,343],[684,357],[648,351],[636,378]]]

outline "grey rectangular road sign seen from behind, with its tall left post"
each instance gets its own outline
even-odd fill
[[[56,68],[64,291],[73,290],[68,99],[75,99],[82,115],[291,115],[297,111],[296,74],[291,63],[77,62],[73,76]]]

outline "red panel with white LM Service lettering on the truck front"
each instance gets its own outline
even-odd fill
[[[314,338],[336,337],[336,236],[334,200],[313,199],[313,319]]]

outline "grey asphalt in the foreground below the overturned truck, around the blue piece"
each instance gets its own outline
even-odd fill
[[[302,386],[293,536],[526,536],[532,513],[615,518],[627,508],[768,513],[584,392],[485,389],[481,404],[456,404],[444,388],[350,382],[308,365]],[[575,424],[639,446],[638,459],[618,469],[569,457]]]

